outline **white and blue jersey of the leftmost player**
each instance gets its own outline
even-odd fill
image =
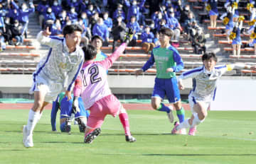
[[[70,90],[84,61],[82,49],[77,45],[75,52],[69,53],[65,38],[45,37],[42,31],[38,33],[37,40],[42,45],[50,46],[50,50],[39,62],[33,73],[33,81],[40,76],[50,83],[62,84],[65,90]]]

